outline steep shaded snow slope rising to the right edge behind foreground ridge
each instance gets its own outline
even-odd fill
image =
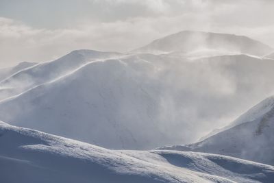
[[[274,97],[264,99],[219,131],[199,143],[161,149],[202,151],[274,164]]]

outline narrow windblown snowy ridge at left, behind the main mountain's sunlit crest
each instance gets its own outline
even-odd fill
[[[5,92],[5,88],[9,90],[5,92],[7,93],[6,95],[0,95],[0,99],[17,95],[39,84],[55,80],[88,62],[119,56],[121,56],[121,53],[82,49],[71,51],[71,53],[58,60],[42,62],[35,66],[18,70],[18,72],[1,80],[0,88],[3,89],[0,90],[0,94]]]

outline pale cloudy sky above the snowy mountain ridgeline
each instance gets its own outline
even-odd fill
[[[274,47],[272,0],[0,0],[0,67],[75,49],[127,52],[182,30]]]

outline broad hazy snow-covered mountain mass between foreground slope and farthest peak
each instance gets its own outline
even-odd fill
[[[77,50],[4,77],[0,120],[110,149],[190,143],[269,95],[273,67],[245,54]]]

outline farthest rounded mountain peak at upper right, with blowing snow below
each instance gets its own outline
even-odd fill
[[[154,40],[134,53],[176,53],[184,56],[247,54],[265,56],[273,51],[268,45],[246,36],[212,32],[182,31]]]

